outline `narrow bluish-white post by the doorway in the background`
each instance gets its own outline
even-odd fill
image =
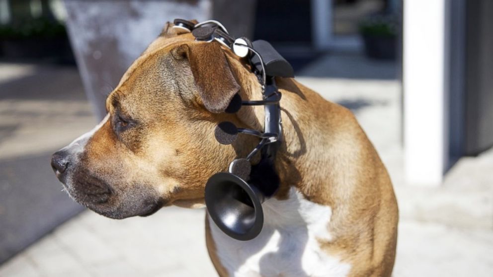
[[[332,41],[332,0],[311,0],[315,48],[327,50]]]

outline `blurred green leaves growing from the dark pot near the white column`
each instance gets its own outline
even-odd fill
[[[359,24],[362,35],[376,37],[396,37],[399,34],[399,21],[395,16],[372,15]]]

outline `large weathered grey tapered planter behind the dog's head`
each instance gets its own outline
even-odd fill
[[[82,82],[101,119],[107,94],[166,21],[218,19],[233,35],[250,36],[255,0],[65,0],[65,6]]]

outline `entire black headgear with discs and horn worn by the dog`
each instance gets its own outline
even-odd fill
[[[231,162],[228,172],[212,175],[205,187],[207,211],[216,225],[232,238],[253,239],[263,226],[262,203],[279,188],[274,161],[282,139],[281,93],[277,90],[274,77],[293,77],[293,68],[268,42],[250,42],[245,37],[235,39],[218,21],[194,24],[175,19],[173,28],[192,32],[196,40],[217,41],[237,56],[247,59],[262,86],[262,100],[242,100],[236,94],[226,112],[236,113],[242,106],[264,106],[263,132],[237,128],[231,122],[222,122],[215,130],[216,139],[221,144],[233,143],[240,133],[258,137],[260,142],[245,158]],[[252,166],[250,161],[258,152],[260,162]]]

